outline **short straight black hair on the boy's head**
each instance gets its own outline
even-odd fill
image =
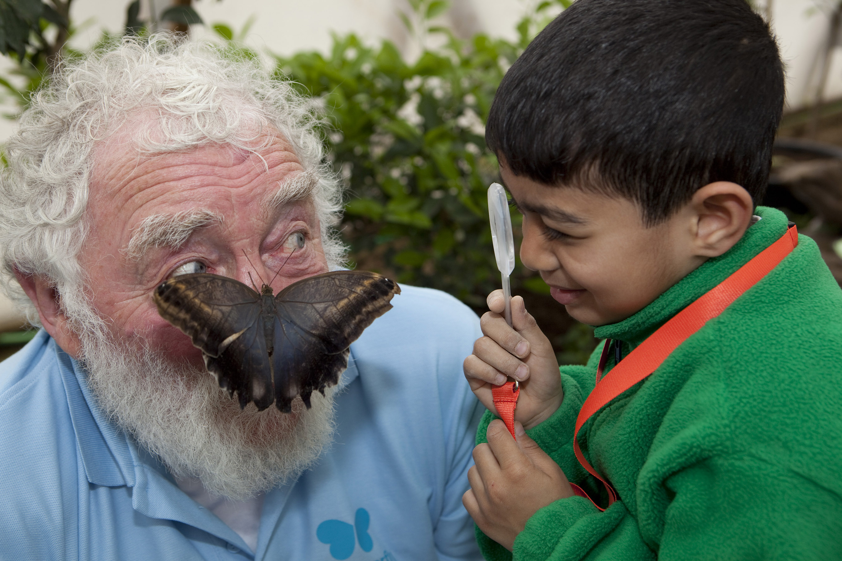
[[[783,102],[745,0],[577,0],[506,72],[486,141],[514,174],[619,194],[653,225],[715,181],[758,204]]]

